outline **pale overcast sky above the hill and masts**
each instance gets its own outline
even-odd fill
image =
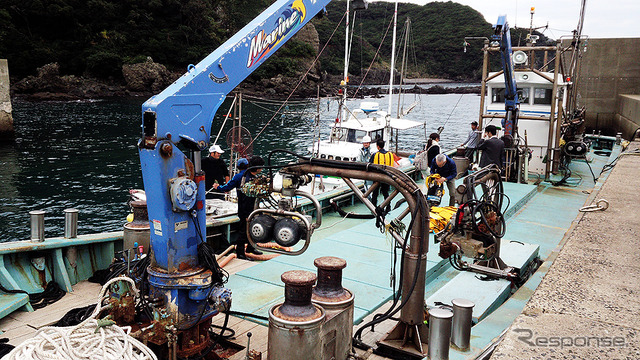
[[[394,2],[394,0],[371,0]],[[424,5],[433,0],[404,0]],[[531,7],[535,7],[533,26],[545,36],[557,39],[570,35],[578,26],[580,0],[455,0],[468,5],[494,24],[499,15],[507,15],[511,27],[529,28]],[[587,0],[582,34],[590,38],[640,37],[640,0]]]

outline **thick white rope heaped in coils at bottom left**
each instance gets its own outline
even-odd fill
[[[31,339],[16,346],[6,357],[8,360],[157,360],[146,345],[131,337],[131,327],[120,327],[110,320],[97,319],[104,295],[116,281],[135,283],[128,277],[111,279],[100,291],[98,304],[91,316],[76,326],[46,326]],[[5,358],[3,358],[5,359]]]

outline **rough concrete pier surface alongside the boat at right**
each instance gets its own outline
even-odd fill
[[[640,141],[623,154],[491,359],[640,359]]]

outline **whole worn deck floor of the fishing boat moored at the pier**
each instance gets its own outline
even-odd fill
[[[614,151],[609,156],[594,156],[591,166],[599,173],[602,166],[615,158]],[[449,303],[452,298],[466,298],[476,303],[474,318],[479,321],[472,328],[471,349],[460,352],[451,349],[451,359],[471,359],[481,354],[487,344],[498,339],[516,317],[522,312],[533,291],[547,273],[550,256],[561,248],[567,230],[572,226],[578,209],[590,202],[590,192],[598,190],[606,178],[601,177],[595,188],[590,180],[587,164],[574,161],[574,179],[571,186],[555,187],[548,183],[538,186],[505,183],[505,192],[510,197],[511,206],[505,212],[507,233],[502,242],[502,257],[515,267],[525,267],[533,258],[540,256],[546,262],[515,294],[511,295],[510,283],[506,280],[481,281],[470,273],[460,273],[448,261],[437,256],[437,247],[431,245],[427,256],[427,284],[425,298],[433,306],[436,301]],[[364,213],[362,205],[349,209]],[[392,212],[399,214],[402,208]],[[553,216],[550,216],[552,214]],[[408,222],[409,219],[405,219]],[[526,249],[526,251],[523,251]],[[391,239],[380,233],[374,221],[342,218],[335,213],[324,216],[323,225],[314,233],[314,240],[307,252],[299,256],[279,256],[265,262],[248,262],[234,259],[226,267],[230,278],[227,287],[233,292],[232,309],[266,316],[268,309],[283,300],[284,288],[280,275],[288,270],[305,269],[315,272],[313,260],[319,256],[334,255],[347,260],[343,273],[343,285],[354,292],[354,329],[370,320],[374,312],[384,311],[391,306],[393,295],[390,287]],[[516,265],[517,264],[517,265]],[[19,344],[33,336],[37,329],[59,320],[68,310],[86,306],[96,301],[100,286],[88,282],[74,285],[73,292],[36,312],[16,311],[0,321],[3,336],[10,343]],[[214,323],[222,325],[224,318],[216,316]],[[267,326],[265,321],[232,316],[229,327],[234,329],[231,340],[245,347],[247,334],[254,336],[251,348],[267,351]],[[363,332],[363,341],[374,345],[394,322],[387,321],[375,327],[374,331]],[[359,351],[362,354],[362,351]],[[230,359],[243,359],[244,351]],[[382,359],[370,355],[369,359]]]

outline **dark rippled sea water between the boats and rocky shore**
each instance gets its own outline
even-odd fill
[[[44,210],[45,236],[62,236],[63,210],[80,210],[80,234],[122,229],[129,209],[128,189],[142,188],[136,143],[140,137],[140,106],[146,99],[80,102],[25,102],[13,104],[16,141],[0,145],[0,242],[29,238],[29,211]],[[388,108],[388,98],[350,100],[349,108],[361,101],[377,101]],[[394,102],[397,101],[394,99]],[[406,95],[405,106],[419,101],[406,116],[426,122],[426,133],[445,125],[444,148],[460,144],[476,120],[478,95]],[[338,109],[336,101],[320,103],[321,132],[328,134]],[[230,101],[219,113],[226,113]],[[277,107],[245,101],[243,125],[257,134],[270,125],[254,143],[254,153],[286,148],[307,153],[314,140],[315,104],[289,106],[290,114],[273,118]],[[393,113],[396,106],[393,107]],[[213,136],[222,124],[217,115]],[[448,120],[447,120],[448,119]],[[227,150],[224,137],[218,141]],[[419,150],[425,129],[402,133],[405,149]],[[228,155],[225,154],[225,155]],[[283,158],[278,157],[278,160]]]

